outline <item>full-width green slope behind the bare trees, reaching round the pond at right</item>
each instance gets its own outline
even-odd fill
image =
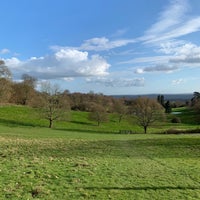
[[[170,127],[178,128],[196,128],[198,123],[194,113],[186,108],[178,108],[174,111],[181,111],[181,124],[172,124],[169,115],[166,122],[158,122],[148,128],[149,133],[163,132]],[[63,122],[55,122],[54,129],[80,132],[102,132],[118,133],[119,130],[133,130],[137,133],[143,133],[143,129],[136,125],[133,119],[126,117],[121,123],[118,123],[118,117],[110,115],[110,121],[97,126],[95,122],[88,120],[87,112],[71,111],[70,118]],[[2,106],[0,107],[0,124],[6,126],[28,126],[28,127],[48,127],[48,121],[42,119],[38,112],[30,107],[23,106]]]

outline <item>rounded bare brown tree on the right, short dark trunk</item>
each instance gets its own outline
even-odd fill
[[[163,116],[163,108],[154,99],[140,97],[134,102],[133,113],[137,118],[138,125],[142,126],[144,132],[147,133],[147,128]]]

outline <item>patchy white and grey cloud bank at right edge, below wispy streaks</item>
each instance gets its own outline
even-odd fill
[[[147,67],[137,68],[135,70],[137,74],[147,72],[170,73],[181,69],[182,66],[193,67],[200,64],[200,46],[191,42],[177,40],[162,42],[158,52],[167,55],[135,58],[126,63],[149,64]]]

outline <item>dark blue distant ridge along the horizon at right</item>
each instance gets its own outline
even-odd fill
[[[127,98],[134,99],[137,97],[148,97],[152,99],[157,99],[157,96],[160,94],[142,94],[142,95],[112,95],[115,98]],[[187,101],[193,97],[193,94],[161,94],[164,96],[165,100],[169,101]]]

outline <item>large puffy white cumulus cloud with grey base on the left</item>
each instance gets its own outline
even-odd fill
[[[5,62],[16,76],[28,73],[40,79],[104,76],[110,67],[100,55],[89,56],[86,51],[69,48],[59,49],[44,57],[32,57],[25,61],[13,57],[5,59]]]

